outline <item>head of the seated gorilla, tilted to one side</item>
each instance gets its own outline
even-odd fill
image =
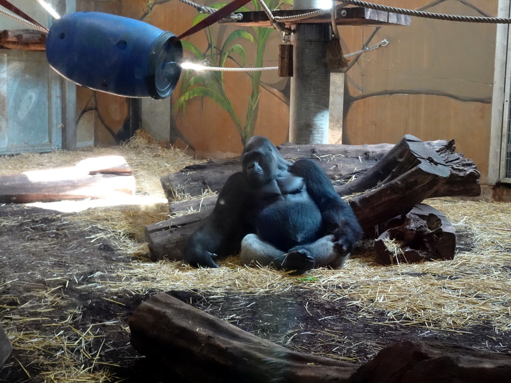
[[[253,136],[247,141],[241,164],[243,174],[252,185],[264,185],[289,167],[277,148],[263,136]]]

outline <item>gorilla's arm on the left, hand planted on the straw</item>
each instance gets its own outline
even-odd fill
[[[193,267],[218,268],[218,255],[229,255],[240,247],[246,234],[244,201],[246,181],[241,173],[231,175],[220,191],[213,212],[190,236],[183,260]]]

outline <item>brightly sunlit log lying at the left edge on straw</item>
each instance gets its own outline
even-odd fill
[[[135,194],[135,178],[121,156],[87,158],[61,169],[0,175],[0,202],[28,203]]]

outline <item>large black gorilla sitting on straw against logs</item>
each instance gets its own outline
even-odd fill
[[[240,251],[244,264],[303,274],[340,268],[362,230],[350,205],[310,159],[286,161],[266,137],[248,140],[242,172],[231,175],[213,212],[190,236],[183,260],[217,268],[216,258]]]

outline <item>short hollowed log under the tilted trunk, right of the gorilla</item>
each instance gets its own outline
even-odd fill
[[[454,226],[431,206],[417,204],[405,217],[382,226],[385,231],[375,241],[375,250],[383,265],[454,258]]]

